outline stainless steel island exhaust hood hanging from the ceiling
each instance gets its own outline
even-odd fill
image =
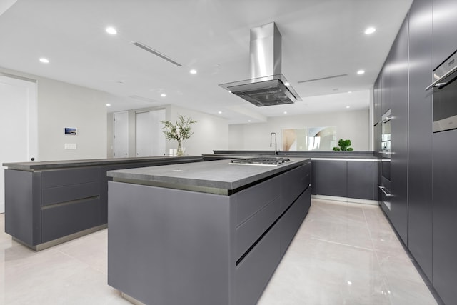
[[[274,22],[251,29],[249,50],[251,79],[219,86],[256,106],[301,101],[281,74],[281,34]]]

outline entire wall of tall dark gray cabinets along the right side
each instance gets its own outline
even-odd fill
[[[392,116],[386,215],[447,305],[457,304],[457,130],[433,134],[433,93],[425,88],[457,49],[455,16],[456,0],[414,0],[373,93],[375,122],[387,109]]]

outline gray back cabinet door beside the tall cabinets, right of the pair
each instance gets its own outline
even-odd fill
[[[348,197],[378,200],[377,162],[348,161]]]

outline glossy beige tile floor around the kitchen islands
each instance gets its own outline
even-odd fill
[[[4,214],[0,228],[0,304],[129,304],[106,284],[106,229],[35,252],[4,233]],[[378,206],[313,199],[258,304],[436,301]]]

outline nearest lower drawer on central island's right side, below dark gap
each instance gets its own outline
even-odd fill
[[[233,304],[256,304],[279,264],[279,239],[279,228],[273,226],[236,266]]]

